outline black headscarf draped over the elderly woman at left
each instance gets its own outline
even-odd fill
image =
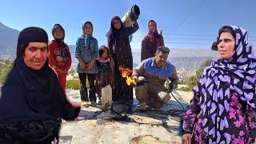
[[[28,27],[20,32],[14,67],[6,79],[6,84],[2,86],[2,98],[0,100],[1,107],[4,109],[0,110],[2,117],[9,118],[8,115],[12,115],[16,121],[24,120],[24,118],[18,118],[19,114],[15,112],[18,109],[27,115],[26,120],[74,119],[78,115],[79,109],[67,109],[67,106],[69,108],[72,106],[67,101],[56,74],[48,66],[48,59],[40,70],[31,70],[23,61],[25,49],[30,42],[45,42],[47,44],[46,31],[39,27]],[[13,90],[10,90],[10,86]],[[17,94],[15,89],[21,90],[21,88],[24,91],[22,94]],[[22,101],[16,102],[15,98],[17,97],[22,98]],[[26,103],[23,102],[24,98]],[[14,103],[16,103],[12,106],[14,111],[9,114],[10,112],[5,111],[5,109],[8,110],[6,106]]]

